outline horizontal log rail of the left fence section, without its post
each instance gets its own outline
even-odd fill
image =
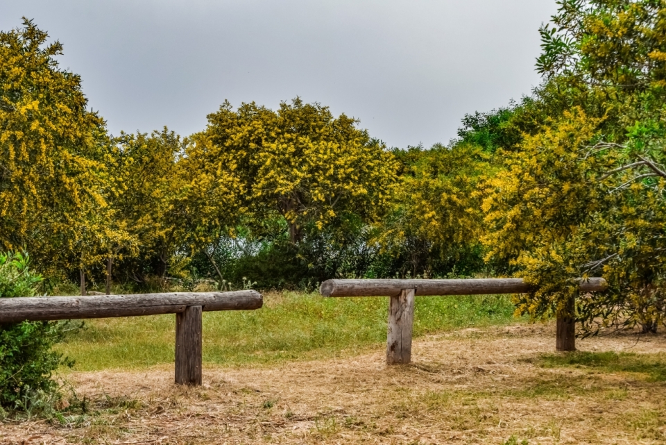
[[[252,310],[262,307],[263,297],[254,290],[20,297],[0,299],[0,323],[173,314],[197,305],[204,311]]]

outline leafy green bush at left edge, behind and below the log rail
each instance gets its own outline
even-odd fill
[[[0,298],[35,296],[42,277],[30,270],[29,263],[27,254],[0,253]],[[51,347],[68,326],[62,321],[0,324],[0,407],[28,409],[25,401],[34,394],[57,395],[53,371],[71,362]]]

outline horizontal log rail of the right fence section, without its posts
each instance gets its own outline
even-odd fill
[[[604,278],[581,280],[581,292],[606,289]],[[323,296],[396,296],[402,289],[416,295],[523,294],[530,286],[522,278],[471,278],[463,280],[327,280],[319,292]]]

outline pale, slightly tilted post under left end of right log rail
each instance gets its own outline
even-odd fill
[[[402,289],[388,303],[388,339],[386,364],[407,364],[411,361],[411,332],[414,323],[415,289]]]

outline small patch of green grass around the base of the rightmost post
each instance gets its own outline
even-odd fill
[[[576,352],[566,355],[542,355],[543,367],[576,367],[590,371],[633,373],[649,382],[666,381],[666,354],[635,354],[615,352]]]

